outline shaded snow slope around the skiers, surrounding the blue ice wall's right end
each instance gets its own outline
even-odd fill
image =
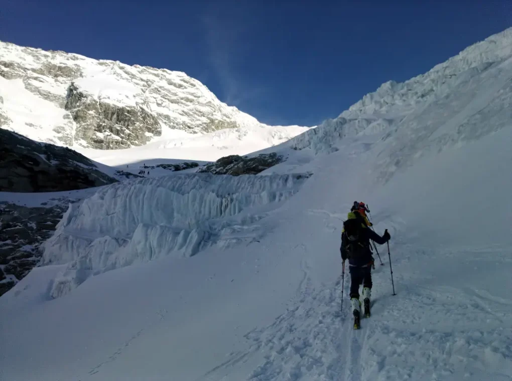
[[[502,39],[512,43],[510,30],[489,41]],[[67,265],[36,268],[0,299],[9,348],[0,378],[511,379],[512,62],[486,57],[498,58],[471,71],[480,62],[467,55],[471,73],[401,117],[396,107],[381,119],[355,116],[357,132],[331,121],[276,147],[297,150],[267,173],[314,175],[257,221],[258,241],[104,272],[54,300]],[[127,184],[129,218],[144,200],[137,184]],[[347,310],[348,274],[340,310],[340,226],[354,200],[392,236],[389,256],[379,247],[385,266],[373,273],[373,315],[360,331]],[[108,221],[108,208],[70,216],[112,234],[123,225]]]

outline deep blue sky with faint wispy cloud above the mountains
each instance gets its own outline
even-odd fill
[[[183,71],[262,122],[314,125],[512,26],[512,0],[3,0],[0,17],[1,40]]]

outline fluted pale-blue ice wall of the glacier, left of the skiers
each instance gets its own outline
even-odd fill
[[[257,240],[254,225],[291,197],[302,175],[177,174],[114,184],[70,205],[44,244],[44,264],[65,264],[58,297],[97,275],[163,256],[189,257]]]

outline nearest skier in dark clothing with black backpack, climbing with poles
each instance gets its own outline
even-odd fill
[[[342,245],[339,248],[343,262],[349,260],[350,271],[350,301],[354,314],[354,327],[359,324],[360,306],[359,286],[362,284],[362,298],[365,307],[365,316],[370,316],[370,297],[372,289],[371,266],[373,262],[370,249],[370,239],[378,244],[384,244],[391,238],[388,230],[381,237],[373,230],[368,229],[366,221],[360,211],[351,211],[343,222]],[[345,264],[344,264],[345,266]],[[357,323],[357,324],[356,324]]]

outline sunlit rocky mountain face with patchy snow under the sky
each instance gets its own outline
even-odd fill
[[[33,140],[129,148],[167,128],[205,133],[252,125],[260,123],[185,73],[0,41],[0,127]]]

